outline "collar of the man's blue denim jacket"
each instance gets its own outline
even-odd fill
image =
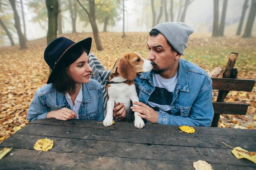
[[[153,71],[142,73],[139,75],[140,79],[151,79],[153,81]],[[179,59],[178,66],[178,81],[177,81],[177,90],[189,92],[188,80],[186,75],[186,65],[184,59]]]

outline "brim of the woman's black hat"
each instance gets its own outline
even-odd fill
[[[90,48],[91,48],[91,45],[92,45],[92,38],[91,37],[88,37],[84,40],[81,40],[79,42],[76,42],[76,44],[74,44],[72,47],[70,47],[67,51],[70,51],[72,50],[75,46],[82,46],[83,48],[85,48],[87,50],[87,55],[89,56],[89,53],[90,53]],[[65,54],[67,53],[67,51],[65,51]],[[63,54],[63,56],[61,57],[60,60],[64,59],[67,55]],[[56,67],[52,69],[52,72],[47,80],[47,84],[50,84],[54,81],[54,77],[55,77],[55,70],[56,68],[58,68],[58,63],[56,64]]]

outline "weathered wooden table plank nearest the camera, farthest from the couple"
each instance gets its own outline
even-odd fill
[[[13,153],[12,156],[10,154]],[[26,154],[25,154],[26,153]],[[0,169],[42,169],[42,170],[194,170],[193,162],[186,161],[159,161],[148,159],[128,159],[115,156],[93,156],[85,154],[70,154],[58,152],[41,152],[36,150],[13,149],[6,157],[0,160]],[[29,161],[28,161],[29,160]],[[197,161],[197,160],[196,160]],[[255,167],[236,166],[229,164],[211,164],[213,169],[246,169],[254,170]]]

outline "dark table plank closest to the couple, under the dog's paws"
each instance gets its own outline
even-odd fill
[[[116,122],[116,125],[111,127],[104,127],[102,124],[97,124],[99,121],[91,120],[76,120],[61,121],[57,119],[39,119],[30,124],[42,124],[42,125],[58,125],[58,126],[71,126],[71,127],[91,127],[110,130],[129,130],[129,131],[142,131],[142,132],[159,132],[159,133],[171,133],[180,134],[180,129],[174,125],[155,125],[145,124],[145,127],[138,129],[134,127],[133,123]],[[24,127],[23,127],[24,128]],[[23,130],[22,128],[22,130]],[[252,137],[256,136],[256,130],[252,129],[232,129],[232,128],[218,128],[218,127],[194,127],[195,133],[200,135],[218,135],[218,136],[233,136],[233,137]]]

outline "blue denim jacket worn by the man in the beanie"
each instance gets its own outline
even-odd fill
[[[134,80],[140,102],[147,103],[155,89],[152,74],[143,73]],[[157,124],[209,127],[214,115],[212,80],[202,68],[184,59],[179,59],[177,77],[172,113],[158,111]]]

